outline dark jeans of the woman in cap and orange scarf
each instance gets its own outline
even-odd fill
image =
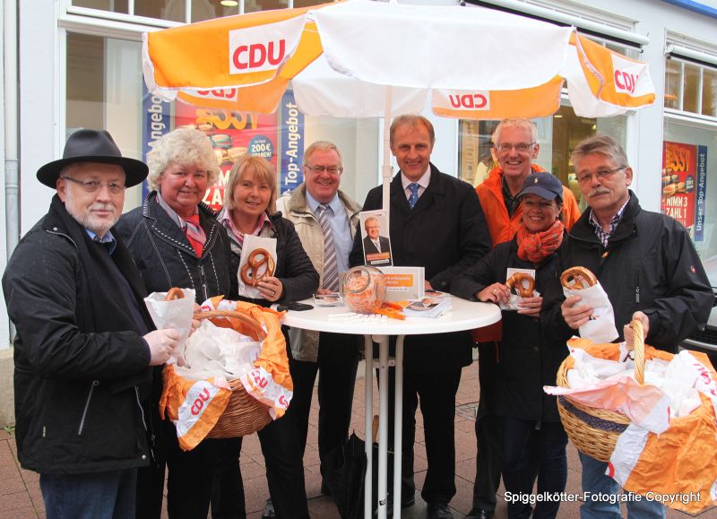
[[[505,490],[530,496],[535,469],[538,469],[538,493],[559,494],[566,489],[567,436],[557,422],[536,422],[503,417],[501,428],[501,460]],[[538,501],[532,512],[534,519],[555,519],[559,501]],[[523,519],[531,516],[531,506],[523,502],[508,503],[508,517]]]

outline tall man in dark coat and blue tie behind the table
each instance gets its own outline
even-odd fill
[[[391,183],[389,236],[394,265],[422,266],[426,288],[449,291],[457,272],[488,253],[490,237],[472,186],[430,163],[435,141],[433,125],[425,117],[401,116],[391,125],[391,151],[401,171]],[[379,186],[368,193],[364,210],[381,205]],[[362,245],[357,232],[351,264],[363,263]],[[421,497],[428,503],[429,517],[453,517],[448,503],[455,494],[454,402],[461,368],[472,360],[471,332],[411,335],[405,347],[402,506],[413,504],[413,442],[420,399],[428,457]],[[393,425],[391,416],[388,423]]]

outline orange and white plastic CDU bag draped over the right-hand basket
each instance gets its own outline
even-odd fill
[[[586,350],[598,359],[618,360],[620,356],[616,343],[596,344],[574,338],[568,341],[568,347]],[[717,506],[717,373],[704,353],[689,351],[689,354],[693,361],[687,368],[695,370],[695,389],[700,394],[701,405],[679,418],[670,419],[668,410],[668,427],[661,434],[652,433],[634,421],[618,437],[608,475],[623,489],[696,515],[705,508]],[[645,345],[645,359],[670,361],[673,357]],[[566,367],[573,366],[574,359],[568,358]],[[599,392],[570,394],[570,398],[592,407],[625,411],[624,402],[631,392],[651,389],[649,385],[629,382],[605,388],[601,395]],[[550,389],[557,390],[549,391],[551,394],[564,393],[563,388]]]

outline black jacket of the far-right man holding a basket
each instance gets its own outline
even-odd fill
[[[669,216],[644,211],[632,192],[608,247],[589,217],[590,210],[583,212],[561,247],[561,270],[583,266],[595,273],[612,303],[619,341],[623,326],[642,310],[650,319],[645,342],[676,352],[679,342],[704,328],[714,300],[687,230]],[[557,341],[576,333],[560,311],[564,299],[559,281],[550,284],[543,299],[543,324]]]

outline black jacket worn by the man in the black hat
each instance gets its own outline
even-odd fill
[[[134,303],[118,287],[120,275]],[[81,474],[149,463],[140,400],[151,379],[142,336],[152,324],[122,240],[108,256],[56,195],[13,252],[3,290],[17,326],[15,430],[22,467]]]

